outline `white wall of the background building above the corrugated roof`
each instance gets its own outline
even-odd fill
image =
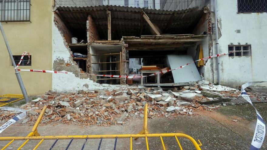
[[[110,0],[110,5],[124,6],[124,0]],[[103,5],[108,5],[108,0],[103,0]],[[135,0],[129,0],[129,7],[137,7]],[[139,0],[139,7],[144,7],[144,0]],[[153,0],[148,0],[148,8],[153,9]],[[155,9],[160,9],[160,0],[155,0]]]

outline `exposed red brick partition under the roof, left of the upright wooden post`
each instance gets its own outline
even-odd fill
[[[94,42],[95,40],[99,40],[99,35],[96,30],[96,26],[93,22],[92,17],[89,15],[88,16],[88,21],[86,22],[86,27],[87,27],[87,42]]]

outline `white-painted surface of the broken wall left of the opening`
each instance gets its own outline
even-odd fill
[[[64,45],[63,37],[54,23],[54,14],[52,16],[52,68],[53,62],[57,59],[63,59],[66,63],[73,65],[70,52]],[[88,87],[88,88],[87,88]],[[52,74],[52,90],[57,92],[77,92],[78,90],[93,91],[95,89],[119,89],[120,85],[98,84],[87,79],[76,77],[72,73]]]

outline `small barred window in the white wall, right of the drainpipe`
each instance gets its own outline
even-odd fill
[[[251,45],[228,45],[228,56],[250,56]]]

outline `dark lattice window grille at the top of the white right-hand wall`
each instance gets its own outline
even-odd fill
[[[267,12],[267,0],[237,0],[238,12]]]

